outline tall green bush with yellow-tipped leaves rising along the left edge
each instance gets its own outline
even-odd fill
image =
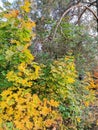
[[[21,10],[5,10],[0,19],[0,91],[10,86],[31,86],[39,67],[29,50],[35,22],[28,18],[30,3]],[[31,67],[28,67],[31,66]],[[31,76],[32,75],[32,76]]]

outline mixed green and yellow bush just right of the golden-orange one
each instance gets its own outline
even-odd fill
[[[73,56],[65,56],[53,63],[42,65],[42,74],[32,90],[40,96],[59,101],[59,111],[66,129],[84,128],[84,112],[89,113],[89,105],[95,99],[93,79],[86,74],[79,80]],[[81,125],[82,123],[82,125]],[[80,130],[80,128],[79,128]]]

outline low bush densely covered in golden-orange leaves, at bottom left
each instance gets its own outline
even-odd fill
[[[43,130],[60,127],[59,103],[53,99],[41,101],[29,89],[9,88],[2,92],[0,126],[3,130]]]

